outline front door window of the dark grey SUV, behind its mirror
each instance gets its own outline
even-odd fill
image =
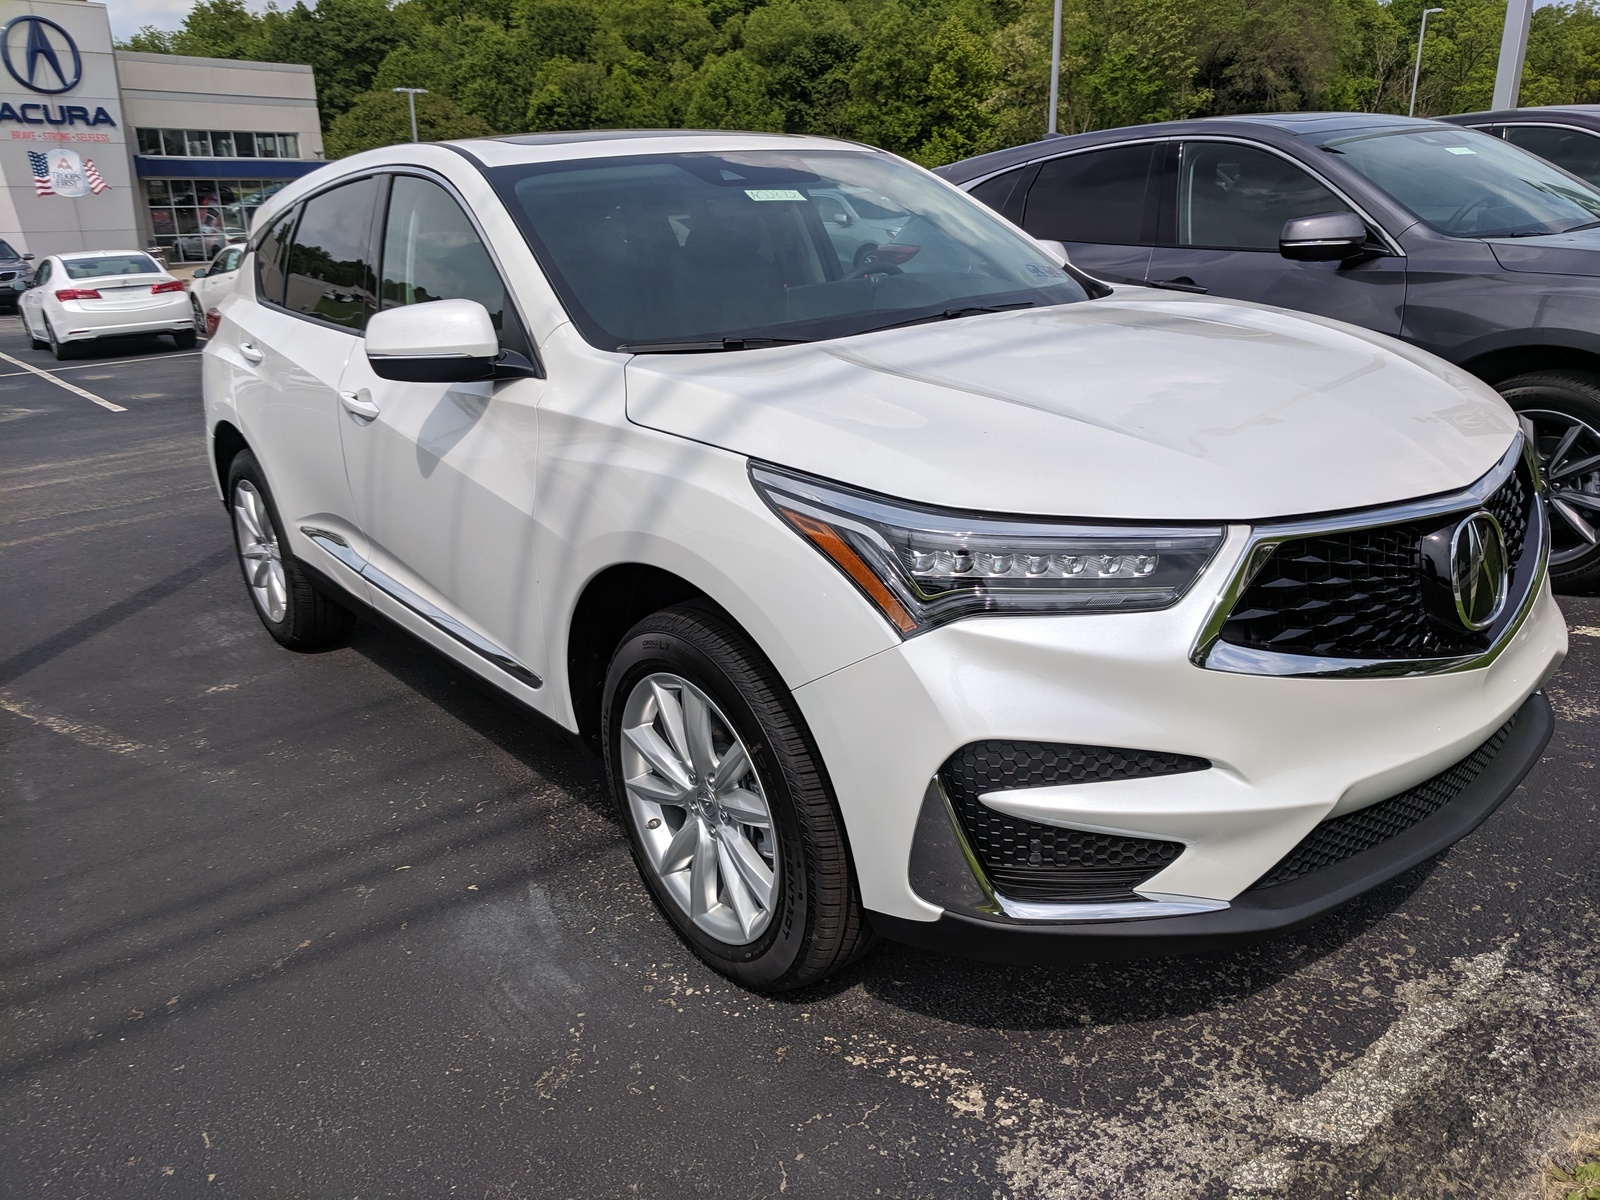
[[[1178,158],[1178,245],[1278,248],[1283,222],[1347,211],[1294,163],[1235,142],[1184,142]]]

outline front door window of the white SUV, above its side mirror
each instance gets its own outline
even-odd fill
[[[397,174],[389,189],[381,294],[386,309],[474,299],[506,333],[506,285],[478,230],[450,192],[411,174]]]

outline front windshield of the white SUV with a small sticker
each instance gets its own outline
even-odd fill
[[[738,150],[490,171],[584,338],[744,349],[1067,304],[1094,285],[917,168],[851,150]],[[883,222],[813,195],[872,197]]]

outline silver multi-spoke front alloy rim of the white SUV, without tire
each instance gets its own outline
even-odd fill
[[[749,750],[682,675],[646,675],[622,709],[622,779],[650,870],[701,931],[754,942],[778,904],[778,835]]]

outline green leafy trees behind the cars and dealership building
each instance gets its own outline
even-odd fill
[[[1403,112],[1429,0],[1064,0],[1064,131],[1230,112]],[[1506,0],[1429,19],[1419,114],[1486,107]],[[934,165],[1038,138],[1051,0],[198,0],[128,50],[307,62],[328,154],[499,130],[856,138]],[[395,107],[398,101],[398,109]],[[1523,104],[1600,101],[1600,0],[1533,16]]]

